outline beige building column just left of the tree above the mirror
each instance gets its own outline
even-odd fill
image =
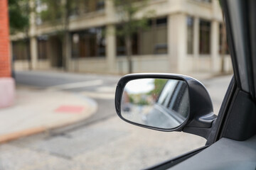
[[[114,25],[107,26],[106,45],[108,72],[114,73],[116,72],[116,38]]]

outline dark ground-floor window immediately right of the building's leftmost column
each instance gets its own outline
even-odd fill
[[[47,59],[48,35],[38,37],[38,59]]]

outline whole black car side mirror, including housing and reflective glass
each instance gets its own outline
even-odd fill
[[[216,115],[205,86],[179,74],[128,74],[115,94],[122,120],[161,131],[190,132],[207,137]]]

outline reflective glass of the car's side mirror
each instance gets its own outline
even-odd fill
[[[135,79],[124,87],[121,115],[154,128],[172,129],[189,113],[188,85],[176,79]]]

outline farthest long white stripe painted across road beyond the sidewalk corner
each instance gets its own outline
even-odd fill
[[[48,87],[48,91],[60,91],[60,90],[68,90],[68,89],[76,89],[80,87],[87,87],[87,86],[97,86],[102,85],[103,81],[101,79],[92,80],[92,81],[82,81],[70,84],[60,84],[57,86],[50,86]]]

